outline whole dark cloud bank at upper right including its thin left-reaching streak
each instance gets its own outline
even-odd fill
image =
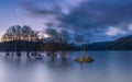
[[[102,35],[110,26],[122,28],[132,21],[132,0],[84,0],[68,13],[57,3],[51,9],[40,9],[35,4],[26,9],[36,15],[55,15],[61,26],[88,35]]]

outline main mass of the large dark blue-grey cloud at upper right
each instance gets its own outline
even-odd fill
[[[132,1],[88,0],[59,20],[63,24],[82,30],[127,24],[132,21]]]

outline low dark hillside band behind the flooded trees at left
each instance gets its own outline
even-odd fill
[[[13,44],[13,46],[12,46]],[[29,45],[26,45],[29,44]],[[3,42],[0,44],[0,50],[2,51],[61,51],[61,50],[75,50],[75,47],[72,44],[62,44],[62,43],[42,43],[42,42],[25,42],[25,40],[15,40],[15,42]]]

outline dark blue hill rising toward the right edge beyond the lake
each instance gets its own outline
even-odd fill
[[[132,35],[121,37],[113,42],[92,43],[87,50],[132,50]]]

